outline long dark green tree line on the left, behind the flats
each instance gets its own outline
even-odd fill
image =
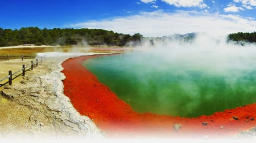
[[[116,33],[104,29],[73,29],[53,28],[39,29],[27,27],[20,29],[0,28],[0,46],[16,46],[24,44],[34,45],[109,45],[126,46],[139,44],[143,36],[135,33]]]

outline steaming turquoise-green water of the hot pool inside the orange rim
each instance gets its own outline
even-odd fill
[[[134,52],[83,65],[138,112],[197,117],[256,102],[251,59],[209,59]]]

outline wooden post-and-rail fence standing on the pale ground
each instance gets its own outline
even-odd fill
[[[16,58],[16,57],[18,57],[18,56],[12,56],[12,57],[15,57],[15,58]],[[19,77],[20,75],[25,76],[25,73],[26,73],[27,71],[33,70],[33,67],[38,67],[38,63],[39,63],[39,62],[38,62],[38,58],[41,58],[40,63],[43,63],[43,57],[38,57],[38,56],[32,57],[32,56],[23,56],[23,55],[22,55],[22,60],[23,60],[23,58],[25,58],[25,57],[26,57],[26,58],[36,58],[36,59],[35,59],[35,61],[31,60],[31,63],[30,63],[30,64],[27,64],[27,65],[23,64],[23,65],[22,65],[22,68],[21,68],[20,70],[16,71],[16,72],[14,72],[14,73],[13,73],[13,71],[9,71],[8,76],[3,77],[2,79],[0,79],[0,87],[6,85],[6,84],[8,84],[8,83],[9,83],[9,85],[13,84],[13,80],[14,80],[14,79],[16,79],[17,77]],[[8,55],[7,60],[9,60],[9,58],[10,58],[10,56]],[[45,56],[44,56],[44,59],[46,59]],[[22,72],[21,72],[21,71],[22,71]],[[9,79],[9,80],[8,80],[6,83],[1,84],[1,82],[2,82],[2,81],[5,81],[6,79]]]

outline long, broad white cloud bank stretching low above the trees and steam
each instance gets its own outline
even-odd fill
[[[256,29],[256,21],[237,15],[219,15],[196,11],[166,13],[158,10],[141,12],[122,18],[86,21],[69,25],[69,27],[100,28],[127,34],[141,33],[147,37],[191,32],[220,35],[234,32],[253,32]]]

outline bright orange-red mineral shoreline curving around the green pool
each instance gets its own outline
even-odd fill
[[[62,63],[67,77],[64,94],[108,137],[233,138],[256,125],[256,103],[197,118],[138,113],[82,66],[84,60],[98,56],[108,55],[76,57]]]

